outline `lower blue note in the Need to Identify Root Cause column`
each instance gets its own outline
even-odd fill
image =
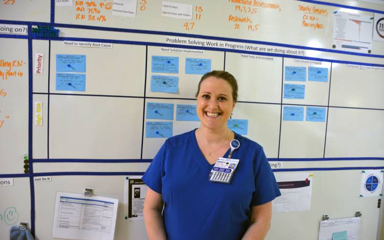
[[[56,73],[56,90],[85,91],[86,75]]]

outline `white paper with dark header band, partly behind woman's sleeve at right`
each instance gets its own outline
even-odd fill
[[[276,174],[282,195],[273,200],[273,213],[310,210],[312,176],[311,173]]]

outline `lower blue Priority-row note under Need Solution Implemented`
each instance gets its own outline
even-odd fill
[[[177,93],[179,90],[179,77],[152,75],[151,91],[152,92],[169,92]]]

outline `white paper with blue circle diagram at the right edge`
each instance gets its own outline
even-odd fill
[[[361,172],[360,195],[362,197],[377,197],[381,194],[381,170],[365,170]]]

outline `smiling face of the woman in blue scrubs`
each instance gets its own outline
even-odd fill
[[[232,87],[227,81],[208,77],[201,83],[196,108],[201,127],[225,130],[234,105]]]

